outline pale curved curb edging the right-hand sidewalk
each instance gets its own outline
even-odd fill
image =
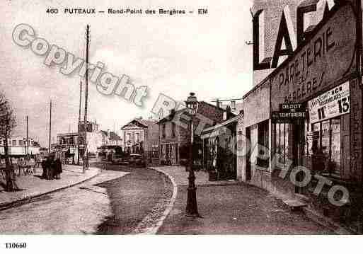
[[[171,183],[173,185],[173,195],[171,196],[171,200],[170,200],[169,204],[166,205],[165,211],[163,212],[161,217],[156,221],[156,224],[154,224],[154,226],[150,226],[150,227],[144,229],[142,233],[137,233],[139,235],[143,235],[143,234],[155,235],[156,233],[158,233],[159,228],[163,225],[163,222],[165,221],[166,217],[168,217],[168,214],[171,212],[171,209],[173,209],[174,202],[176,200],[176,195],[178,195],[178,185],[176,185],[173,176],[169,175],[166,172],[161,171],[158,168],[149,168],[149,169],[162,173],[163,175],[166,175],[166,177],[169,178],[169,180],[171,180]]]

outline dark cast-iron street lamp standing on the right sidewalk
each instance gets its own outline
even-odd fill
[[[188,114],[190,115],[190,146],[189,146],[189,177],[188,177],[188,198],[187,207],[185,209],[187,217],[200,217],[197,207],[197,187],[195,187],[195,174],[193,169],[193,142],[194,142],[194,127],[193,117],[198,110],[198,100],[195,93],[190,93],[190,96],[185,100],[187,105]]]

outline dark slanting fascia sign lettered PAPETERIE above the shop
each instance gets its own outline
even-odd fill
[[[304,102],[352,72],[355,14],[348,4],[331,13],[318,25],[318,33],[272,72],[272,110],[279,110],[280,103]]]

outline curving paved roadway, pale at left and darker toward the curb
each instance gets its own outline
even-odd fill
[[[0,211],[0,233],[132,233],[169,185],[150,169],[106,165],[86,183]]]

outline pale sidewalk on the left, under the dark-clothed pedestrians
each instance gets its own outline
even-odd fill
[[[40,178],[42,168],[37,168],[34,175],[21,175],[16,177],[16,185],[21,189],[16,192],[5,192],[0,185],[0,209],[10,207],[13,203],[29,200],[56,190],[71,187],[85,180],[98,175],[98,168],[89,168],[86,173],[82,173],[81,166],[63,165],[63,173],[59,180],[45,180]]]

